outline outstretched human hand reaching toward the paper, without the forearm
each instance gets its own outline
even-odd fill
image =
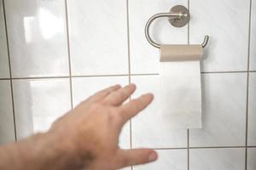
[[[150,149],[122,150],[119,148],[119,133],[125,122],[136,116],[153,99],[144,94],[123,105],[135,91],[131,84],[106,88],[58,119],[49,130],[58,144],[69,150],[73,169],[113,170],[143,164],[157,159]]]

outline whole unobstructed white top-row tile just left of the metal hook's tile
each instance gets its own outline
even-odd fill
[[[68,1],[73,75],[128,73],[125,0]]]

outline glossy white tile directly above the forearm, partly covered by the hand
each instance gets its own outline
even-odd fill
[[[68,79],[14,80],[17,138],[49,129],[71,109]]]

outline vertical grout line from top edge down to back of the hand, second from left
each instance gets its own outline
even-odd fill
[[[67,14],[67,0],[65,0],[65,11],[66,11],[66,29],[67,29],[67,55],[68,55],[70,103],[71,103],[71,109],[73,109],[73,84],[72,84],[72,71],[71,71],[71,54],[70,54],[69,25],[68,25],[68,14]]]

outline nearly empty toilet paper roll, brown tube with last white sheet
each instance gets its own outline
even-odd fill
[[[201,57],[197,45],[160,48],[159,109],[173,129],[201,127]]]

